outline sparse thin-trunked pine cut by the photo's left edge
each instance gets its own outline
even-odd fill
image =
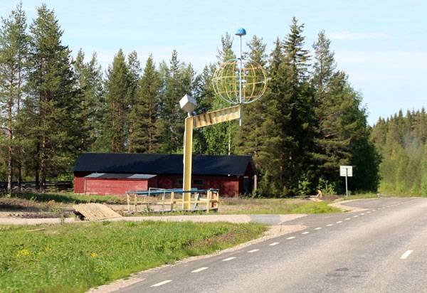
[[[6,132],[7,191],[12,190],[14,159],[19,166],[21,187],[21,127],[19,127],[23,79],[28,51],[26,16],[22,3],[16,6],[9,18],[3,19],[0,31],[0,129]],[[4,117],[4,119],[3,119]],[[3,137],[1,137],[2,139]],[[16,152],[16,155],[14,154]]]

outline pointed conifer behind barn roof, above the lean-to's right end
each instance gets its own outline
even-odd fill
[[[136,96],[135,151],[155,153],[159,149],[159,91],[160,78],[152,55],[145,63]]]

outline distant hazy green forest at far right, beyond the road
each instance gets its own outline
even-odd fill
[[[427,196],[427,114],[423,109],[402,111],[372,129],[382,156],[381,186],[386,194]]]

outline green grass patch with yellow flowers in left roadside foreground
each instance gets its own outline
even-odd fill
[[[36,228],[45,230],[28,231]],[[0,292],[85,292],[132,272],[246,242],[265,229],[153,221],[0,226]]]

